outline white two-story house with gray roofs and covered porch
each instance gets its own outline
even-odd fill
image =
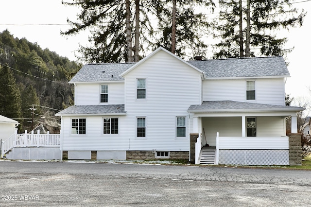
[[[200,163],[206,149],[212,164],[286,165],[285,118],[297,133],[303,110],[285,106],[288,77],[280,56],[184,61],[163,48],[138,63],[85,65],[69,82],[75,105],[56,114],[63,157]]]

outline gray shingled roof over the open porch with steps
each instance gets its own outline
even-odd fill
[[[298,112],[305,108],[286,106],[286,105],[271,105],[271,104],[255,104],[247,102],[234,101],[204,101],[201,105],[190,105],[188,112]]]

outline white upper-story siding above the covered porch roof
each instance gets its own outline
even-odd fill
[[[204,101],[246,102],[247,79],[203,81]],[[258,104],[285,105],[284,78],[256,79],[256,100]]]

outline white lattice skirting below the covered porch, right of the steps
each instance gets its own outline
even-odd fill
[[[219,164],[289,165],[289,150],[219,150]]]

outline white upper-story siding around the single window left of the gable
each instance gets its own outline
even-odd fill
[[[108,86],[108,102],[100,103],[101,85]],[[75,105],[124,104],[124,83],[77,84]]]

